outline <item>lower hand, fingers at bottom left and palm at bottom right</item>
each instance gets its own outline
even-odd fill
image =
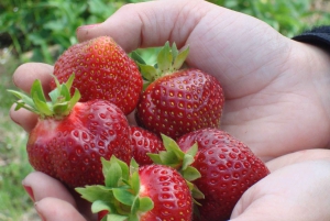
[[[235,206],[231,221],[329,220],[330,151],[288,154],[267,163],[272,174],[256,183]],[[96,220],[88,203],[77,202],[58,180],[30,174],[23,185],[32,188],[35,208],[46,221]],[[74,194],[76,196],[76,194]],[[78,209],[79,208],[79,212]]]

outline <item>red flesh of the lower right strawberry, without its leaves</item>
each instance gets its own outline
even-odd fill
[[[198,200],[201,218],[194,220],[229,220],[243,192],[270,170],[245,144],[224,131],[198,130],[177,141],[184,152],[194,143],[198,144],[198,152],[191,166],[201,177],[193,183],[205,195],[205,199]]]

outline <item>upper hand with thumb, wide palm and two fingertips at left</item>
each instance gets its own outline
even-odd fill
[[[161,46],[167,40],[179,47],[189,45],[188,64],[216,76],[224,88],[222,129],[264,161],[327,147],[330,77],[329,55],[322,49],[201,0],[129,4],[101,24],[77,30],[79,41],[106,34],[127,52]],[[25,91],[40,78],[48,91],[52,71],[45,64],[25,64],[13,78]],[[28,132],[36,122],[35,115],[24,110],[11,111],[11,117]]]

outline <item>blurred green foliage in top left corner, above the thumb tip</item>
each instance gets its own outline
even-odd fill
[[[10,38],[22,62],[53,64],[64,49],[77,43],[75,32],[78,26],[102,22],[121,5],[134,2],[138,1],[1,1],[0,10],[6,13],[0,13],[0,47],[7,46],[1,43],[1,37]],[[32,57],[24,57],[30,51]]]

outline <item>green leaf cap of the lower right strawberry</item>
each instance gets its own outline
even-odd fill
[[[195,143],[187,152],[183,152],[178,144],[170,137],[161,134],[165,151],[160,151],[157,154],[147,153],[147,156],[160,165],[170,166],[177,169],[186,179],[191,191],[194,202],[199,205],[196,199],[204,199],[204,194],[191,181],[200,178],[200,173],[191,164],[195,162],[195,156],[198,151],[198,145]]]

